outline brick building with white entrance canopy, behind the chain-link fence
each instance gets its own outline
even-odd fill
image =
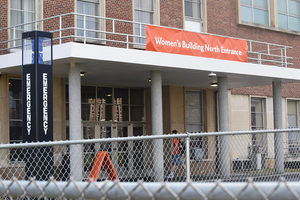
[[[2,143],[22,141],[20,39],[31,30],[53,32],[54,140],[299,126],[299,1],[0,0],[0,8]],[[145,51],[146,24],[246,40],[248,63]],[[273,139],[264,137],[247,138],[231,158],[246,158],[249,143],[267,151]]]

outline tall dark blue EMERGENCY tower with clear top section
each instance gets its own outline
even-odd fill
[[[22,33],[23,142],[53,141],[52,37],[43,31]],[[53,147],[23,153],[26,179],[53,176]]]

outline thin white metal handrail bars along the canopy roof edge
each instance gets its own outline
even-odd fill
[[[63,26],[64,25],[63,17],[73,16],[73,15],[83,17],[83,19],[82,19],[83,20],[83,28],[79,28],[79,27],[66,27],[66,28],[64,28],[64,26]],[[95,18],[97,20],[105,20],[105,26],[110,27],[111,30],[107,31],[106,29],[105,30],[87,29],[86,28],[86,25],[87,25],[86,20],[88,18]],[[134,21],[128,21],[128,20],[122,20],[122,19],[114,19],[114,18],[109,18],[109,17],[86,15],[86,14],[71,12],[71,13],[52,16],[52,17],[48,17],[48,18],[44,18],[44,19],[40,19],[40,20],[27,22],[27,23],[23,23],[23,24],[18,24],[18,25],[15,25],[15,26],[10,26],[10,27],[0,29],[0,33],[1,33],[1,31],[13,30],[13,34],[12,34],[13,38],[11,38],[11,39],[8,38],[7,41],[0,42],[0,44],[2,44],[2,45],[5,44],[5,43],[8,44],[7,45],[8,47],[0,49],[0,52],[4,51],[4,50],[14,49],[14,48],[20,48],[20,45],[17,44],[17,41],[21,41],[21,38],[17,36],[16,31],[22,31],[23,29],[18,28],[18,27],[22,27],[22,26],[30,25],[30,24],[37,24],[37,23],[41,23],[41,22],[44,22],[44,21],[47,21],[47,20],[53,20],[53,19],[58,19],[59,20],[59,26],[58,26],[58,29],[50,30],[50,32],[59,33],[59,36],[53,38],[53,40],[59,40],[59,44],[62,44],[63,39],[65,39],[65,38],[80,38],[84,44],[87,42],[87,40],[92,39],[92,40],[101,40],[103,42],[115,42],[115,43],[120,43],[120,44],[126,44],[126,48],[130,48],[129,45],[133,45],[132,48],[134,48],[135,45],[136,46],[145,46],[145,44],[143,44],[143,43],[131,42],[131,41],[129,41],[129,38],[133,38],[133,41],[135,41],[135,38],[146,39],[146,37],[142,35],[142,27],[146,26],[147,23],[134,22]],[[107,21],[111,21],[111,23],[107,24],[106,23]],[[129,33],[118,32],[117,31],[117,29],[118,29],[117,23],[119,23],[119,22],[131,24],[131,25],[133,25],[133,27],[132,27],[132,29],[130,29]],[[137,25],[137,28],[139,29],[139,32],[134,33],[134,26],[136,26],[136,25]],[[153,25],[153,26],[156,26],[156,25]],[[160,26],[160,27],[165,27],[165,26]],[[165,28],[171,28],[171,29],[175,29],[175,30],[183,30],[183,29],[173,28],[173,27],[165,27]],[[74,31],[81,30],[81,31],[83,31],[83,36],[74,35],[74,34],[63,36],[63,32],[66,31],[66,30],[74,30]],[[103,35],[105,35],[105,37],[102,37],[102,36],[100,36],[100,37],[87,37],[87,32],[95,32],[95,33],[103,34]],[[223,36],[223,35],[211,34],[211,33],[201,33],[201,34],[213,35],[213,36],[219,36],[219,37],[226,37],[226,38],[233,38],[233,39],[242,39],[242,38]],[[8,35],[9,35],[9,33],[8,33]],[[126,39],[125,40],[107,39],[106,35],[118,35],[118,36],[126,37]],[[244,39],[242,39],[242,40],[244,40]],[[281,64],[281,66],[284,66],[284,67],[287,67],[287,66],[293,64],[293,63],[288,62],[288,60],[292,59],[292,57],[288,57],[287,52],[286,52],[287,49],[292,48],[290,46],[274,44],[274,43],[267,43],[267,42],[261,42],[261,41],[254,41],[254,40],[248,40],[248,39],[246,39],[246,41],[249,44],[248,54],[257,54],[258,55],[257,59],[258,59],[259,64],[266,63],[266,62],[273,62],[273,63],[279,63],[279,64]],[[259,45],[266,45],[266,47],[265,47],[265,49],[257,49],[256,50],[254,48],[254,46],[255,46],[254,43],[259,44]],[[12,46],[10,47],[9,44],[11,44]],[[281,54],[280,55],[271,54],[274,51],[281,51]],[[265,52],[267,52],[267,53],[265,53]],[[281,62],[278,61],[279,59],[276,59],[276,60],[262,59],[261,58],[262,55],[277,57],[281,60]],[[249,59],[253,60],[253,58],[249,58]]]

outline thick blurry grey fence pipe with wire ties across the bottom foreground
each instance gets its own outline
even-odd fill
[[[1,199],[300,199],[300,183],[67,182],[0,180]]]

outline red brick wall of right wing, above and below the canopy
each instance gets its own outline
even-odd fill
[[[237,24],[237,4],[236,1],[207,1],[207,30],[225,36],[232,36],[244,39],[257,40],[291,46],[287,55],[293,57],[294,65],[290,67],[300,69],[300,36],[271,31],[256,27]],[[300,85],[283,84],[282,95],[288,97],[300,97]],[[247,87],[233,89],[232,94],[253,94],[262,96],[272,96],[271,86]]]

